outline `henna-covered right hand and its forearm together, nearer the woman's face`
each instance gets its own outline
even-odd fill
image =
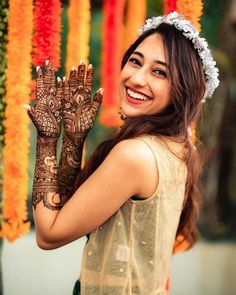
[[[81,170],[83,144],[92,128],[102,101],[102,90],[97,91],[91,101],[94,69],[81,63],[78,70],[73,67],[69,80],[63,79],[64,138],[59,164],[59,192],[70,197],[75,180]]]

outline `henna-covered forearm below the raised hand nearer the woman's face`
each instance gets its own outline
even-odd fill
[[[81,171],[85,137],[69,138],[64,135],[58,169],[59,193],[68,199],[75,190],[75,180]]]

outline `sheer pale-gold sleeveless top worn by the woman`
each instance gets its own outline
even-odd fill
[[[153,152],[159,174],[156,191],[144,200],[129,199],[90,234],[80,275],[82,295],[167,294],[187,177],[179,157],[183,144],[166,137],[137,139]]]

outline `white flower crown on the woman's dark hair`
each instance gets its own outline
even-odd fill
[[[161,23],[175,26],[175,28],[181,31],[186,38],[192,41],[194,48],[197,49],[205,73],[206,91],[204,99],[202,100],[204,102],[206,97],[212,97],[215,89],[219,85],[219,70],[215,66],[216,62],[212,58],[206,40],[199,36],[199,32],[190,21],[186,20],[176,11],[164,16],[147,19],[146,23],[138,30],[138,33],[139,35],[142,35],[150,29],[157,28]]]

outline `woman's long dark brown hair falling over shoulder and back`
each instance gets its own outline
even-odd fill
[[[140,135],[165,135],[184,138],[186,155],[184,161],[188,174],[185,188],[185,200],[177,235],[188,241],[189,248],[197,240],[197,219],[200,205],[199,171],[197,150],[189,140],[189,125],[198,118],[201,100],[205,92],[204,73],[198,53],[191,41],[181,32],[168,24],[149,30],[141,35],[126,51],[121,67],[123,68],[132,52],[148,36],[161,34],[167,60],[170,65],[171,101],[165,110],[155,115],[142,115],[127,118],[119,132],[113,138],[101,143],[81,171],[76,188],[79,187],[103,162],[111,149],[121,140]]]

